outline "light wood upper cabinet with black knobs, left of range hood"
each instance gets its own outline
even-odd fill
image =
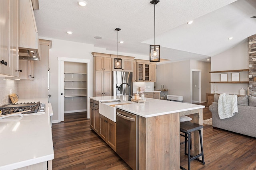
[[[19,3],[0,1],[0,76],[18,76]]]

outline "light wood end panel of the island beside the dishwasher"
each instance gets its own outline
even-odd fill
[[[139,169],[180,168],[179,113],[139,117]]]

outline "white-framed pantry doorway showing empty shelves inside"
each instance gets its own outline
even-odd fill
[[[90,108],[90,60],[58,57],[58,121],[64,113],[87,111]],[[88,113],[86,115],[88,118]]]

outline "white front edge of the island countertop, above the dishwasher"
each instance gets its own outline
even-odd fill
[[[166,111],[166,112],[161,112],[161,113],[153,113],[153,114],[150,114],[150,115],[144,115],[144,114],[138,113],[138,112],[136,112],[136,111],[132,111],[132,110],[130,110],[130,109],[123,108],[122,105],[116,105],[115,107],[118,108],[118,109],[124,110],[124,111],[128,111],[128,112],[130,112],[130,113],[139,115],[139,116],[141,116],[141,117],[146,117],[146,118],[147,118],[147,117],[160,116],[160,115],[166,115],[166,114],[170,114],[170,113],[178,113],[178,112],[181,112],[181,111],[192,110],[191,108],[186,108],[186,109],[179,109],[179,110],[175,110],[175,111]],[[205,106],[193,107],[193,110],[194,110],[194,109],[201,109],[201,108],[204,108],[204,107],[205,107]]]

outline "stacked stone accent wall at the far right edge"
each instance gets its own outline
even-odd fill
[[[249,39],[249,88],[250,95],[256,96],[256,34]]]

